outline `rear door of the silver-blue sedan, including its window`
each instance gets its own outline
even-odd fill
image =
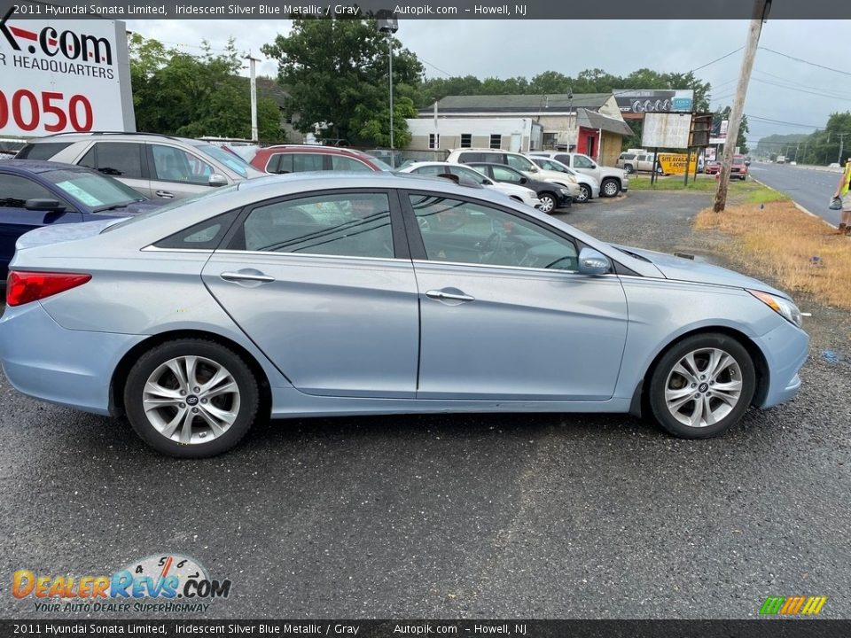
[[[304,393],[413,398],[417,284],[393,191],[252,206],[203,271],[210,292]]]

